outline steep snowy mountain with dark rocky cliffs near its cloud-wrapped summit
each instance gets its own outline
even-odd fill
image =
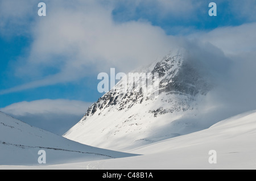
[[[184,119],[195,117],[197,104],[204,99],[212,82],[189,57],[187,50],[174,50],[139,73],[159,75],[158,92],[144,92],[135,83],[132,91],[122,92],[123,79],[92,106],[64,137],[101,148],[123,150],[151,144],[208,128],[209,124]],[[136,71],[134,71],[136,72]],[[129,83],[127,83],[127,87]]]

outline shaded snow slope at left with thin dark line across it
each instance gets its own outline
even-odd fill
[[[47,164],[131,156],[79,144],[0,112],[0,165],[39,165],[39,150],[46,151]]]

